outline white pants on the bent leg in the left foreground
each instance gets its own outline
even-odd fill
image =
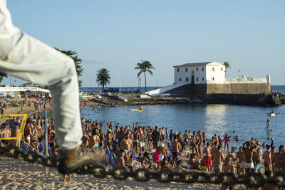
[[[78,77],[71,58],[18,31],[0,38],[0,73],[47,85],[60,149],[81,144]]]

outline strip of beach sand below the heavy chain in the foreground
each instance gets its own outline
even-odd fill
[[[154,180],[138,182],[133,179],[118,181],[111,176],[98,179],[91,175],[72,174],[72,181],[63,183],[63,176],[56,169],[46,175],[46,168],[22,159],[0,155],[1,189],[219,189],[214,184],[160,183]],[[67,178],[68,180],[68,178]],[[241,187],[241,186],[239,186]],[[241,189],[241,188],[237,188]],[[244,189],[244,188],[242,188]]]

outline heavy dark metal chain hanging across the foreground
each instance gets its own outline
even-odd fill
[[[5,154],[7,157],[22,157],[24,161],[41,164],[45,167],[55,167],[59,172],[64,174],[63,164],[60,159],[54,157],[45,157],[37,152],[24,152],[18,147],[4,147],[0,142],[0,154]],[[109,169],[100,164],[96,165],[84,165],[83,167],[73,171],[76,174],[93,174],[97,178],[104,178],[105,176],[113,176],[117,180],[125,180],[128,177],[133,177],[136,181],[149,181],[155,179],[160,182],[182,182],[182,183],[206,183],[206,184],[246,184],[252,187],[260,187],[266,183],[275,184],[279,187],[285,187],[283,179],[285,172],[274,173],[274,176],[266,176],[265,174],[259,174],[250,172],[246,175],[237,175],[233,173],[223,173],[214,175],[203,172],[181,172],[177,173],[171,170],[162,170],[159,172],[150,171],[149,169],[137,169],[130,171],[124,167],[115,167]]]

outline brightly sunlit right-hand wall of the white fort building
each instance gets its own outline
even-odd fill
[[[212,70],[213,68],[214,70]],[[206,65],[207,83],[223,84],[225,77],[226,77],[225,67],[221,63],[212,62]]]

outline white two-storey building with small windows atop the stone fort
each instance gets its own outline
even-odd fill
[[[217,62],[186,63],[174,67],[174,85],[189,84],[224,84],[225,67]]]

